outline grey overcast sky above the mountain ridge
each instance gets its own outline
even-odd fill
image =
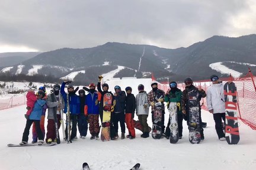
[[[256,33],[255,0],[0,0],[0,53],[106,42],[188,47]]]

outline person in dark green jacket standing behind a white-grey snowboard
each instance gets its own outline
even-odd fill
[[[179,131],[179,135],[180,135],[180,139],[181,139],[183,136],[182,135],[182,133],[183,133],[183,114],[181,112],[182,91],[177,88],[177,83],[175,81],[171,81],[171,83],[169,83],[169,87],[171,89],[168,89],[167,93],[165,94],[165,102],[167,102],[167,103],[177,102],[178,131]],[[169,104],[167,105],[167,107],[169,108]],[[170,125],[170,120],[168,120],[167,128],[165,130],[165,133],[163,133],[163,136],[165,136],[165,138],[167,138],[167,139],[169,139],[169,136],[170,136],[169,125]]]

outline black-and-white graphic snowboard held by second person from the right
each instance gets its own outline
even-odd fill
[[[200,103],[199,103],[199,91],[196,89],[188,91],[188,139],[190,143],[197,144],[200,143]]]

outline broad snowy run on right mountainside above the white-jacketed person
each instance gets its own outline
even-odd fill
[[[209,65],[209,67],[221,74],[231,74],[235,78],[238,78],[242,75],[242,73],[239,73],[238,71],[235,71],[235,70],[232,70],[231,68],[223,66],[222,62],[212,63]]]

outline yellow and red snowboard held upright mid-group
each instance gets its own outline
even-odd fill
[[[113,96],[111,93],[105,93],[103,96],[103,123],[101,126],[101,140],[110,140],[110,118],[111,118],[111,106],[112,106]]]

